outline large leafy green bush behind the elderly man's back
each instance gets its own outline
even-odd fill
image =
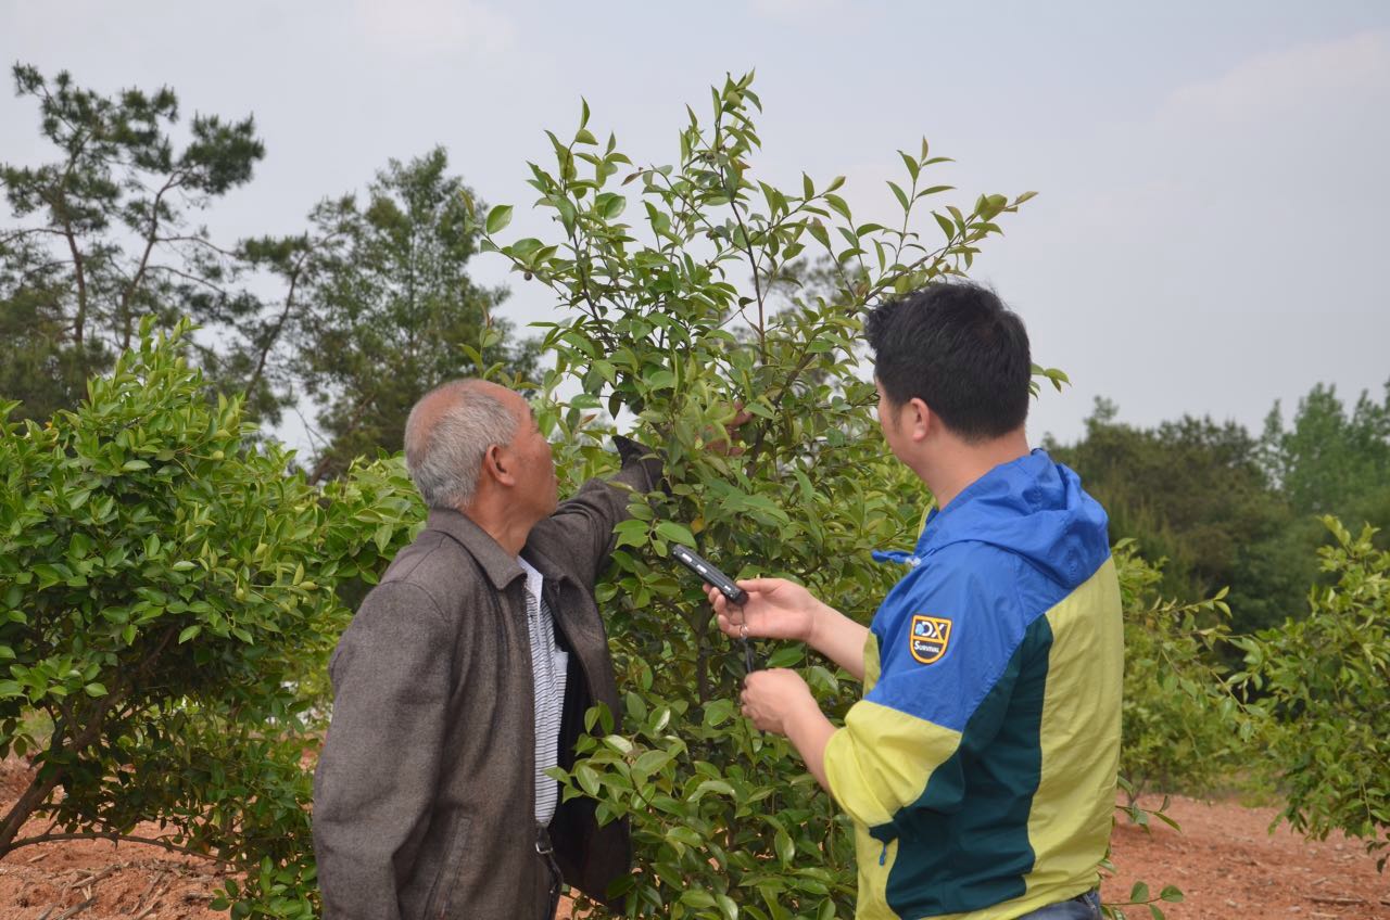
[[[0,855],[157,821],[246,871],[234,916],[313,916],[303,678],[350,616],[335,586],[373,580],[418,503],[395,461],[310,488],[208,402],[186,325],[150,329],[75,411],[0,424],[0,755],[36,767]],[[53,828],[21,837],[35,817]]]

